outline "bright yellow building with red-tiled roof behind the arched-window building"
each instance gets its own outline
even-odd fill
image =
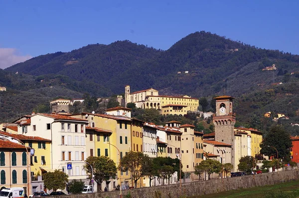
[[[51,171],[51,140],[37,136],[26,136],[21,134],[11,134],[0,131],[0,136],[9,137],[11,139],[20,140],[30,151],[29,162],[31,166],[31,177],[34,177],[39,172],[42,175],[45,172]]]

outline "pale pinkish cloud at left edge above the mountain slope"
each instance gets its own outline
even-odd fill
[[[30,55],[20,55],[15,48],[0,48],[0,68],[4,69],[14,64],[24,62],[32,58]]]

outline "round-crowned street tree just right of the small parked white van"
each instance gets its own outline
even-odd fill
[[[103,181],[108,181],[110,178],[115,179],[117,174],[117,167],[115,162],[106,156],[94,157],[90,156],[86,159],[86,162],[91,164],[93,168],[93,174],[95,181],[98,185],[98,189],[102,190],[101,184]],[[88,173],[91,173],[91,167],[87,164],[85,166]]]

